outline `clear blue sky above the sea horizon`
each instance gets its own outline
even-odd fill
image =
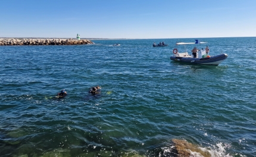
[[[256,37],[255,0],[11,0],[0,11],[0,37]]]

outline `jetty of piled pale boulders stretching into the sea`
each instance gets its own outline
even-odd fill
[[[92,41],[81,39],[0,39],[0,46],[11,45],[76,45],[76,44],[93,44]]]

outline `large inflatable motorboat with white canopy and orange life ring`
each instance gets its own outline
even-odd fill
[[[195,43],[176,43],[176,45],[185,45],[185,44],[203,44],[207,42],[198,42],[196,40]],[[209,56],[206,53],[205,49],[197,50],[196,57],[192,57],[188,54],[188,52],[179,53],[178,50],[175,48],[173,49],[173,56],[170,57],[171,60],[177,62],[185,62],[185,63],[192,63],[192,64],[200,64],[200,65],[219,65],[223,60],[227,58],[226,53],[222,53],[216,56]]]

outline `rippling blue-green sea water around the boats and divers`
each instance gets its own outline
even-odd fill
[[[256,156],[256,37],[199,39],[218,66],[170,60],[194,40],[1,46],[0,156],[171,156],[173,139]]]

